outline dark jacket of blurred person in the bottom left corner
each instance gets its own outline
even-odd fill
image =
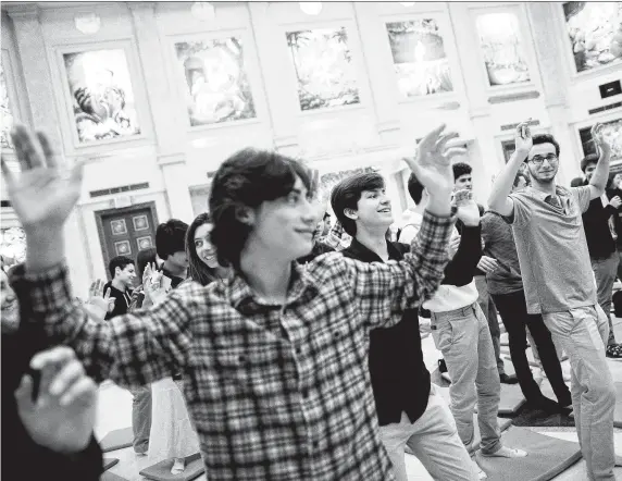
[[[2,334],[2,472],[7,481],[59,479],[95,481],[103,472],[99,444],[91,437],[88,447],[72,455],[52,452],[36,444],[22,424],[14,392],[27,372],[33,356],[52,347],[43,330],[23,322],[16,333]]]

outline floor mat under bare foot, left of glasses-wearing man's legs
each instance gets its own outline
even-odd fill
[[[524,458],[489,458],[475,454],[488,481],[548,481],[581,458],[579,443],[562,441],[524,428],[512,427],[502,435],[505,446],[528,453]]]

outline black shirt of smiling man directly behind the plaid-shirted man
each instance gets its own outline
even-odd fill
[[[390,260],[401,260],[410,251],[409,245],[389,240],[387,248]],[[341,254],[363,262],[382,262],[356,238]],[[402,411],[411,422],[416,421],[430,397],[430,372],[421,351],[418,309],[406,310],[393,328],[370,333],[369,365],[380,424],[399,422]]]

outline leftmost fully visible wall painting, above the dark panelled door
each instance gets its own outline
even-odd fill
[[[62,59],[80,144],[140,134],[123,48],[65,52]]]

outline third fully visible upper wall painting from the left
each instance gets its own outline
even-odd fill
[[[287,32],[300,110],[360,103],[345,27]]]

